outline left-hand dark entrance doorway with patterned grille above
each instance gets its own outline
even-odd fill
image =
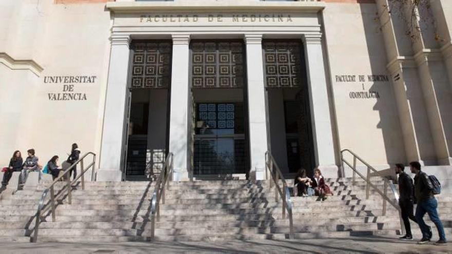
[[[171,41],[131,44],[123,180],[155,179],[168,153]]]

